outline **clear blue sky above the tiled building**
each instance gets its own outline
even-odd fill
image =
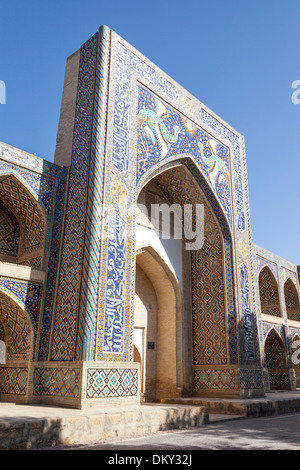
[[[254,243],[300,264],[300,0],[1,0],[0,140],[53,161],[66,58],[106,24],[246,139]]]

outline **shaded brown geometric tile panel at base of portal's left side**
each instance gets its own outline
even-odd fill
[[[36,367],[33,377],[33,395],[78,398],[80,369]]]

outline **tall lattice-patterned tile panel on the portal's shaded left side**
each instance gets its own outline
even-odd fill
[[[96,49],[97,34],[83,44],[80,50],[72,162],[53,330],[52,360],[72,360],[75,356],[76,326],[84,246]]]

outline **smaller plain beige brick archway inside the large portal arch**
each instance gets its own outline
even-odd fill
[[[178,396],[180,289],[152,247],[137,252],[136,264],[134,326],[142,335],[140,347],[135,345],[141,356],[142,396],[145,401]]]

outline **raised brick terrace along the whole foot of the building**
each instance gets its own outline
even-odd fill
[[[173,402],[173,403],[171,403]],[[300,391],[264,398],[187,398],[168,403],[68,409],[0,403],[0,450],[107,442],[224,420],[300,412]]]

